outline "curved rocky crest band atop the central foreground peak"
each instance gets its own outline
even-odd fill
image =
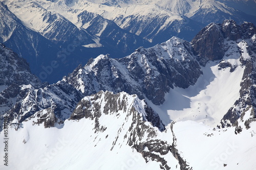
[[[154,127],[163,131],[164,125],[158,114],[155,113],[144,101],[141,101],[137,95],[129,95],[125,92],[114,94],[110,91],[99,91],[96,94],[84,97],[78,102],[77,107],[73,111],[70,119],[81,119],[83,117],[95,119],[102,114],[122,114],[131,115],[132,112],[142,114],[143,120],[151,122]],[[96,123],[97,124],[97,123]]]

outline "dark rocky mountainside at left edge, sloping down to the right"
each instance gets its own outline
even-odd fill
[[[0,113],[1,120],[3,120],[3,114],[16,104],[20,95],[23,95],[24,89],[26,87],[38,88],[40,80],[31,74],[29,64],[25,59],[3,44],[0,44],[0,58]]]

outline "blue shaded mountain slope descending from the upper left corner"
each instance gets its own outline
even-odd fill
[[[11,13],[2,2],[0,8],[1,42],[25,58],[30,63],[32,72],[40,78],[39,74],[43,70],[41,65],[46,66],[45,63],[56,60],[58,47],[39,33],[25,27],[23,21]]]

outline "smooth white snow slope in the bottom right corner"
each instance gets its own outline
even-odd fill
[[[246,114],[250,114],[248,111]],[[176,123],[177,149],[193,169],[255,169],[256,124],[239,134],[234,127],[213,129],[187,120]],[[225,166],[226,165],[226,166]]]

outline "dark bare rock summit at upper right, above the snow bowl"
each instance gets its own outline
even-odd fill
[[[225,20],[222,24],[210,23],[203,28],[191,44],[202,66],[208,61],[221,60],[226,51],[224,41],[247,39],[253,36],[256,28],[252,23],[237,25],[233,20]]]

